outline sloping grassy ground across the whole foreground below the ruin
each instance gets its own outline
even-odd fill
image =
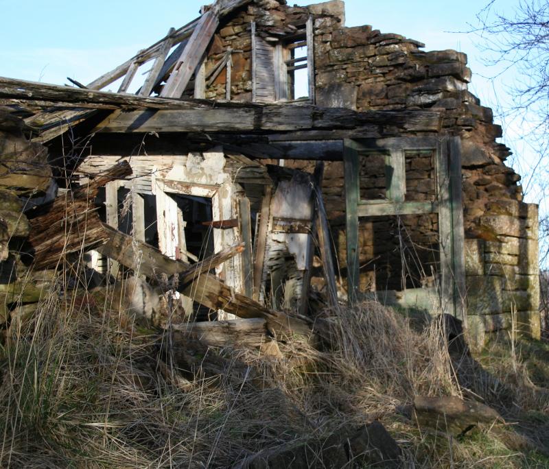
[[[449,354],[441,322],[414,332],[368,303],[326,314],[330,344],[207,348],[61,287],[5,330],[2,467],[388,467],[376,421],[395,466],[549,466],[547,344],[499,341],[475,361]],[[435,429],[416,396],[484,401],[505,422]]]

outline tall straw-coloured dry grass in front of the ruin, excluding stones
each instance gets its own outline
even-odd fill
[[[196,352],[204,363],[222,360],[223,372],[193,378],[180,370],[178,381],[158,334],[122,328],[83,289],[60,291],[5,334],[2,467],[226,468],[373,419],[399,440],[406,467],[526,460],[489,429],[457,442],[420,432],[397,413],[417,394],[462,393],[434,322],[418,333],[394,311],[366,303],[330,313],[334,334],[323,350],[296,337],[281,344],[283,359],[257,350]],[[521,396],[514,397],[526,405]]]

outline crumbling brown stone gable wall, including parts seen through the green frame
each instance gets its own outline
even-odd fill
[[[486,333],[509,327],[515,317],[528,333],[539,336],[537,207],[522,202],[520,176],[504,164],[511,152],[496,141],[502,136],[502,129],[493,123],[491,109],[481,106],[478,98],[467,90],[471,70],[465,53],[422,51],[423,44],[417,40],[399,34],[382,34],[369,25],[342,27],[342,2],[290,8],[283,0],[256,0],[222,25],[209,49],[207,70],[231,47],[234,50],[231,99],[250,101],[250,23],[255,21],[258,34],[274,44],[292,34],[296,27],[303,27],[309,14],[314,15],[318,106],[439,110],[443,112],[441,131],[460,136],[468,314],[476,339],[482,343]],[[225,82],[223,71],[207,88],[206,97],[224,99]],[[303,162],[285,164],[312,170],[312,165]],[[406,200],[430,200],[434,196],[432,162],[410,155],[406,169]],[[376,171],[376,165],[363,169],[364,197],[383,195],[383,178]],[[323,193],[338,246],[338,262],[344,273],[341,162],[328,162],[325,166]],[[408,269],[407,287],[428,279],[431,267],[436,266],[437,258],[432,254],[436,231],[437,221],[433,216],[401,217],[399,222],[395,219],[362,221],[362,287],[396,288],[401,282],[402,270],[395,265],[403,262],[416,265],[418,261],[420,265]],[[408,240],[405,251],[416,253],[408,259],[397,254],[402,252],[399,250],[402,232]],[[399,242],[395,243],[395,239]],[[390,266],[390,272],[382,266]]]

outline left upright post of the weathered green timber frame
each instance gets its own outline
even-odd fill
[[[347,293],[349,303],[358,299],[360,286],[358,263],[358,147],[344,139],[343,161],[345,173],[345,218],[347,220]]]

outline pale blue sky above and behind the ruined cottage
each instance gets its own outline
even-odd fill
[[[198,16],[198,0],[0,0],[0,75],[24,80],[63,84],[69,76],[89,83],[148,47],[170,27],[180,27]],[[288,3],[294,3],[290,0]],[[299,5],[314,3],[298,1]],[[495,84],[482,75],[493,71],[482,64],[478,38],[458,34],[476,23],[476,14],[488,0],[347,0],[347,26],[370,24],[382,32],[395,32],[425,43],[425,50],[457,49],[469,56],[473,70],[471,92],[485,106],[505,102],[506,86],[513,75]],[[518,0],[496,0],[495,8],[510,12]],[[117,86],[111,86],[116,91]],[[535,161],[527,141],[519,136],[519,124],[504,123],[504,142],[513,147],[514,167],[528,176]],[[532,192],[528,200],[538,202]],[[538,199],[538,200],[536,200]]]

